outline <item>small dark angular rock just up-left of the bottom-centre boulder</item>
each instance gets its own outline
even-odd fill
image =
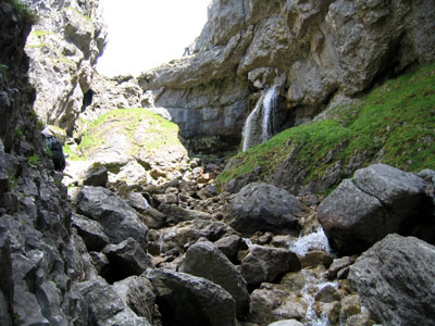
[[[119,244],[109,244],[103,253],[109,259],[109,271],[105,278],[112,283],[132,275],[140,275],[147,268],[153,267],[150,258],[133,238]]]

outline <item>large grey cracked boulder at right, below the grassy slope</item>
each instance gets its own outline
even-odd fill
[[[319,205],[319,221],[333,248],[359,253],[387,234],[410,231],[421,221],[417,216],[424,215],[425,187],[417,175],[371,165],[341,181]]]

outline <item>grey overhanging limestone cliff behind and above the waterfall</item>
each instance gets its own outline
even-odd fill
[[[253,87],[270,88],[277,76],[286,80],[281,101],[289,126],[335,96],[358,96],[380,78],[434,60],[434,17],[430,0],[215,0],[195,53],[139,79],[183,136],[239,137]]]

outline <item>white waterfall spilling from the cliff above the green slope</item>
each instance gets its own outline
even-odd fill
[[[244,151],[253,146],[268,141],[273,136],[277,93],[277,86],[273,86],[265,92],[263,91],[260,99],[256,103],[256,108],[246,120],[244,128]],[[261,115],[261,121],[259,121],[259,115]],[[261,129],[261,135],[257,135],[256,138],[256,130],[259,128]]]

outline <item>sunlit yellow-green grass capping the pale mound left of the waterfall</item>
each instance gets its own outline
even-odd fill
[[[100,147],[120,137],[130,145],[129,155],[137,154],[141,148],[152,153],[181,143],[178,126],[147,109],[116,109],[94,122],[82,121],[80,125],[85,131],[78,146],[79,154],[69,146],[63,148],[72,160],[87,159]]]

